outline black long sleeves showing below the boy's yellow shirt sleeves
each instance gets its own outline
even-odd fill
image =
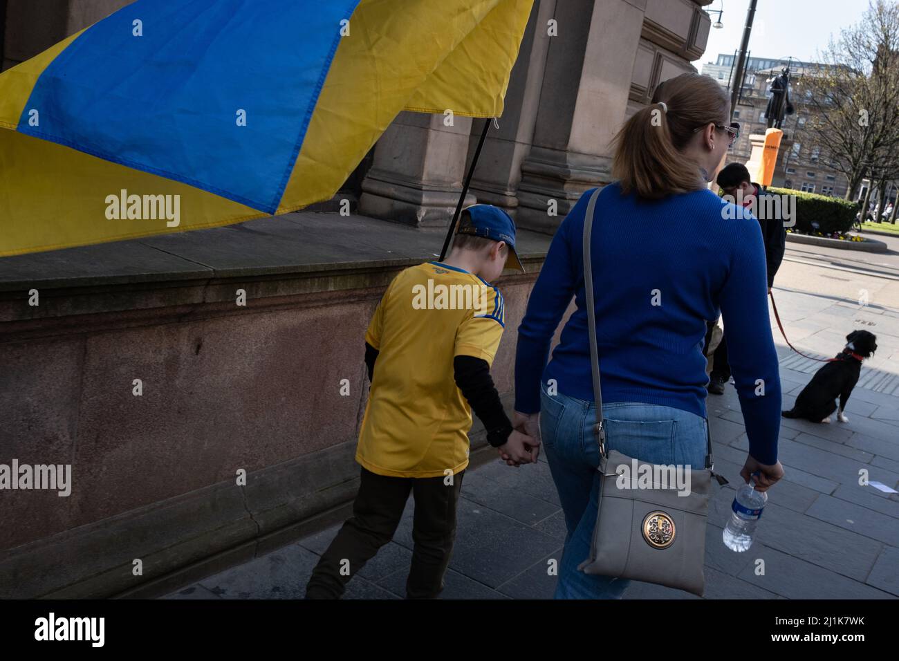
[[[365,365],[369,371],[369,381],[374,378],[377,360],[378,350],[366,342]],[[453,359],[453,377],[468,406],[484,423],[487,442],[494,448],[503,445],[512,433],[512,422],[503,410],[500,394],[490,376],[490,365],[475,356],[456,356]]]

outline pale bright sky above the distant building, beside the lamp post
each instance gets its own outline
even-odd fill
[[[733,54],[740,48],[749,0],[714,0],[703,7],[717,21],[717,10],[723,9],[724,28],[711,28],[708,46],[702,58],[693,65],[715,61],[718,53]],[[868,0],[758,0],[749,49],[753,58],[788,58],[805,62],[817,61],[816,53],[827,46],[831,35],[838,37],[841,28],[858,22],[868,9]],[[716,11],[712,11],[716,10]]]

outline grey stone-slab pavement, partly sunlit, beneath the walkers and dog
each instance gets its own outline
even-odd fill
[[[826,358],[845,335],[877,335],[846,408],[848,423],[781,420],[785,478],[769,492],[752,548],[735,553],[721,540],[748,444],[729,385],[709,396],[716,489],[708,515],[707,599],[895,599],[899,597],[899,237],[886,255],[791,244],[774,295],[790,341]],[[793,353],[771,317],[780,356],[784,407],[821,363]],[[168,594],[169,599],[293,599],[338,525]],[[546,460],[512,469],[499,460],[467,471],[458,533],[442,598],[548,599],[565,522]],[[405,594],[412,555],[412,502],[396,536],[355,576],[347,599]],[[679,590],[633,582],[626,599],[696,599]]]

